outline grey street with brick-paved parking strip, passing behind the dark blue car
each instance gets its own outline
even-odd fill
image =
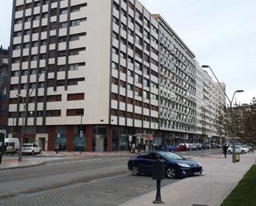
[[[188,158],[210,154],[177,153]],[[127,160],[120,156],[55,160],[46,165],[1,170],[0,205],[118,205],[155,189],[152,177],[133,177],[128,172]],[[164,180],[162,185],[176,181]]]

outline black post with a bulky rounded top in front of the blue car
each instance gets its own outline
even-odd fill
[[[161,198],[161,180],[164,179],[166,174],[165,165],[161,160],[156,160],[152,165],[152,180],[157,180],[157,194],[153,204],[164,204]]]

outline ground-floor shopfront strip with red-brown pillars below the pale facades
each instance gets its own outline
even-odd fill
[[[17,132],[16,137],[20,137]],[[158,146],[191,142],[196,135],[112,125],[66,125],[41,127],[24,132],[23,142],[36,142],[43,151],[130,151],[145,144],[146,150]]]

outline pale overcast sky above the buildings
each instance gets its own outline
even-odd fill
[[[106,0],[102,0],[106,1]],[[196,55],[210,65],[234,101],[249,103],[256,97],[255,0],[139,0],[151,13],[159,13]],[[0,45],[9,45],[12,0],[0,2]],[[208,71],[212,78],[214,76]]]

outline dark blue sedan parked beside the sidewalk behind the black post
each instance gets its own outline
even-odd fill
[[[157,160],[161,160],[166,165],[167,178],[202,174],[200,163],[186,160],[184,157],[168,151],[144,152],[138,156],[132,156],[128,160],[128,170],[131,170],[133,175],[152,174],[152,165]]]

